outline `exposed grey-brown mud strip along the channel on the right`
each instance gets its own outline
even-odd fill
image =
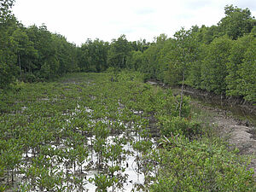
[[[155,82],[154,80],[148,81],[148,84],[159,85],[165,87],[165,84]],[[191,91],[192,90],[192,91]],[[256,180],[256,125],[255,125],[255,106],[249,108],[250,111],[249,119],[241,119],[239,115],[231,113],[226,109],[218,108],[218,102],[216,105],[209,106],[205,102],[212,102],[212,96],[203,91],[197,91],[195,89],[184,90],[184,95],[194,97],[191,104],[194,108],[199,108],[203,113],[208,114],[207,121],[214,125],[218,137],[222,137],[224,141],[230,143],[232,148],[238,148],[241,155],[251,155],[253,158],[251,160],[248,168],[253,168],[254,178]],[[180,89],[175,89],[173,92],[175,94],[180,93]],[[219,96],[214,96],[215,100],[219,100]],[[199,99],[199,100],[198,100]],[[205,101],[205,102],[202,102]],[[236,101],[231,101],[236,105]],[[216,106],[216,107],[215,107]],[[254,114],[253,114],[254,113]]]

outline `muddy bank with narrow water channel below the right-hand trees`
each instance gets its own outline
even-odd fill
[[[149,84],[169,88],[165,84],[150,80]],[[174,95],[180,94],[181,88],[172,88]],[[256,106],[241,98],[212,94],[206,90],[185,87],[184,95],[192,98],[191,104],[208,114],[207,121],[214,125],[218,137],[230,143],[231,148],[238,148],[241,155],[250,155],[252,160],[248,168],[253,168],[256,180]],[[224,108],[223,108],[224,105]]]

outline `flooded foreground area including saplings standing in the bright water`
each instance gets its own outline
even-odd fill
[[[73,119],[79,113],[84,112],[91,117],[94,110],[78,104],[73,111],[62,113],[62,115],[66,117],[68,126],[73,123]],[[131,112],[137,115],[143,114],[143,111],[132,110]],[[97,125],[100,125],[99,130],[96,130]],[[143,152],[134,146],[136,143],[146,141],[155,148],[155,142],[154,139],[140,136],[139,131],[134,131],[135,126],[138,130],[142,127],[133,122],[124,123],[119,119],[90,119],[88,120],[90,133],[81,137],[83,142],[75,141],[76,138],[62,137],[58,143],[50,143],[40,148],[40,153],[29,148],[26,154],[22,154],[21,168],[24,172],[18,173],[16,180],[21,184],[29,183],[34,186],[29,191],[41,191],[34,183],[39,182],[42,179],[40,177],[43,176],[39,174],[38,178],[33,180],[26,172],[32,174],[31,170],[37,168],[33,167],[36,165],[35,162],[43,161],[43,165],[49,166],[48,174],[64,179],[61,185],[68,191],[96,191],[98,177],[106,177],[110,180],[118,178],[112,186],[108,186],[108,191],[143,191],[137,189],[145,182]],[[122,133],[112,132],[113,127],[114,130],[120,127],[121,131],[118,132]],[[65,129],[63,127],[61,132],[65,132]],[[79,127],[74,127],[73,130],[80,136],[83,135],[80,134],[82,131]],[[76,142],[80,144],[74,146]],[[79,159],[83,155],[78,153],[84,154],[84,157]]]

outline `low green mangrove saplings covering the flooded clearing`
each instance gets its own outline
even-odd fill
[[[125,79],[129,75],[126,73]],[[168,157],[169,151],[167,149],[165,149],[167,152],[162,151],[162,153],[159,152],[162,148],[154,150],[151,140],[149,141],[148,118],[152,116],[157,122],[165,123],[170,115],[172,118],[169,119],[178,116],[180,96],[174,97],[164,90],[155,90],[151,86],[135,81],[128,82],[130,80],[126,79],[126,81],[123,78],[120,78],[119,82],[111,83],[106,80],[109,79],[108,74],[86,73],[70,75],[69,77],[73,78],[72,81],[75,81],[75,84],[67,83],[68,79],[66,79],[66,83],[63,83],[64,79],[62,79],[62,82],[55,84],[27,86],[25,90],[20,90],[19,94],[11,96],[11,99],[7,98],[10,101],[9,108],[0,115],[0,141],[9,140],[11,137],[15,137],[15,139],[21,137],[22,142],[16,142],[20,143],[25,152],[33,150],[33,156],[35,154],[35,157],[30,158],[30,161],[24,159],[27,165],[19,167],[20,170],[24,170],[21,174],[24,173],[22,175],[25,175],[25,178],[21,178],[21,182],[35,186],[34,189],[28,190],[37,190],[39,185],[44,190],[48,186],[48,189],[52,191],[61,191],[61,189],[62,191],[83,190],[82,187],[86,188],[84,183],[86,180],[83,180],[82,177],[88,170],[94,169],[94,166],[97,168],[98,175],[95,180],[90,180],[91,183],[96,184],[98,191],[106,191],[111,188],[113,190],[122,189],[122,185],[125,183],[125,172],[128,171],[125,170],[126,154],[129,155],[129,158],[131,154],[137,155],[139,172],[145,176],[144,190],[149,190],[154,183],[174,181],[170,177],[165,177],[168,172],[173,173],[172,176],[178,177],[180,183],[183,182],[182,180],[189,179],[189,177],[180,179],[182,174],[173,171],[175,165],[168,166],[172,163],[169,159],[175,159],[174,155]],[[183,97],[183,117],[189,113],[189,108],[187,108],[189,102],[187,101],[186,97]],[[22,109],[22,107],[26,108]],[[16,114],[10,114],[13,112]],[[121,135],[117,136],[114,133],[121,133]],[[35,137],[31,135],[35,135]],[[128,139],[134,141],[132,144],[134,150],[130,152],[125,151],[125,140]],[[171,150],[170,153],[183,155],[183,161],[187,160],[187,154],[183,154],[183,152],[185,150],[189,154],[189,151],[186,150],[189,148],[189,144],[176,144],[180,149],[173,144],[172,148],[175,150]],[[201,148],[205,148],[203,143],[200,145]],[[3,145],[0,144],[0,149],[2,148]],[[194,148],[197,148],[195,144]],[[201,148],[198,150],[201,151]],[[212,150],[209,149],[209,151]],[[22,153],[21,150],[20,152]],[[44,157],[43,159],[39,158],[38,152]],[[206,149],[202,153],[206,157],[200,156],[193,149],[189,160],[195,162],[194,164],[190,162],[188,165],[181,166],[179,161],[175,162],[179,166],[179,170],[187,167],[186,170],[183,170],[184,174],[188,173],[187,175],[189,175],[191,170],[198,173],[197,171],[201,169],[193,170],[193,167],[196,164],[201,164],[201,167],[209,165],[201,162],[204,158],[210,158],[207,153]],[[192,160],[194,157],[192,154],[198,157],[196,160],[199,160],[199,163]],[[49,160],[44,160],[47,158]],[[0,165],[3,165],[2,159],[3,155],[1,154]],[[89,162],[90,159],[91,162]],[[163,163],[161,160],[165,160],[165,162]],[[211,162],[214,163],[215,160],[218,162],[218,158]],[[21,162],[17,163],[17,165],[20,164]],[[222,166],[220,175],[222,175],[223,170],[226,170],[227,165]],[[164,168],[161,169],[161,166]],[[7,171],[7,166],[5,167],[4,171]],[[56,170],[60,172],[62,170],[65,174],[59,176],[59,171],[55,172]],[[212,181],[212,177],[205,174],[211,169],[205,171],[199,176],[205,176],[204,178],[208,181]],[[40,175],[39,172],[43,172],[43,175]],[[47,174],[49,174],[49,179],[46,177]],[[242,173],[241,177],[244,176],[245,174]],[[6,181],[7,175],[4,177]],[[230,174],[227,177],[231,177]],[[61,188],[58,179],[62,179],[61,183],[66,186],[66,189]],[[225,177],[222,177],[222,181],[226,180]],[[230,180],[240,182],[236,178]],[[160,188],[152,187],[151,189],[159,191],[157,189]]]

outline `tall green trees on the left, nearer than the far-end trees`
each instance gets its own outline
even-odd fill
[[[46,26],[23,26],[9,11],[13,3],[0,3],[0,89],[16,79],[40,81],[78,71],[76,45]]]

